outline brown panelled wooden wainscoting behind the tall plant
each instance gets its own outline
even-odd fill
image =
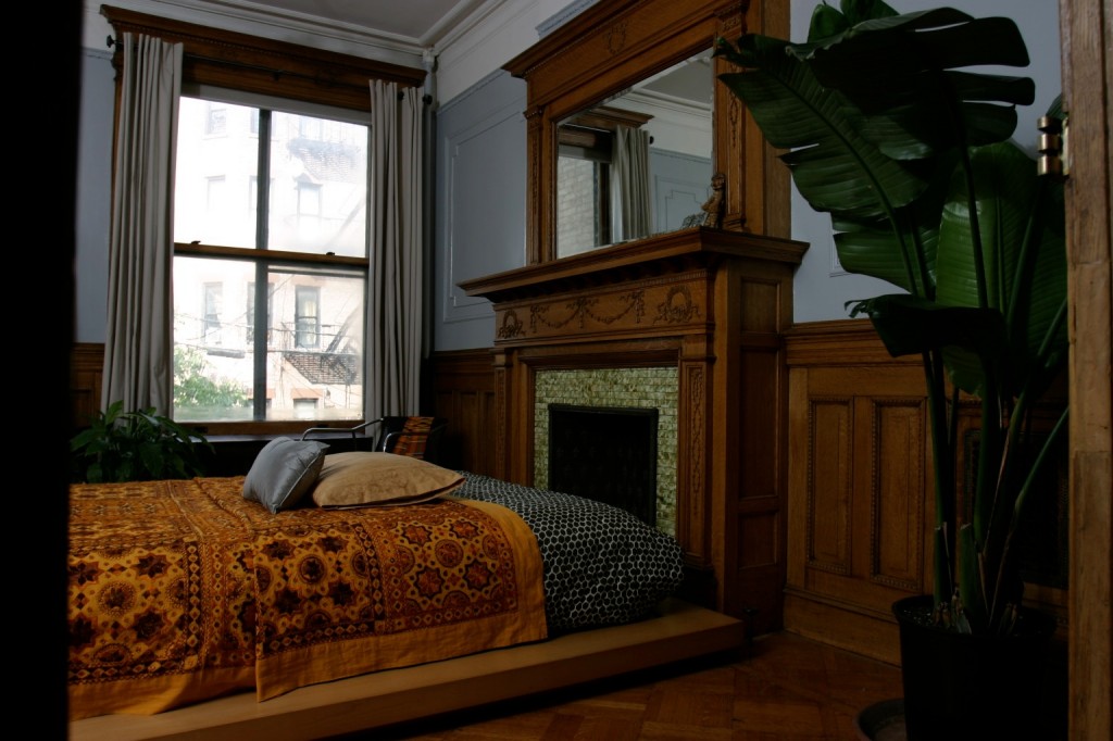
[[[934,476],[919,357],[890,357],[868,320],[796,325],[786,357],[785,629],[899,663],[890,605],[932,590]],[[959,434],[976,427],[969,403]],[[1065,633],[1066,512],[1058,498],[1043,537],[1045,547],[1062,549],[1063,569],[1034,575],[1025,599],[1055,613]]]

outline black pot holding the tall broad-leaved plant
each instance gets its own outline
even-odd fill
[[[1055,619],[1025,609],[1014,635],[969,635],[935,628],[930,613],[930,595],[893,604],[908,741],[1051,738],[1042,694]]]

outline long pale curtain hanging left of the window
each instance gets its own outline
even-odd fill
[[[101,407],[170,414],[174,149],[181,45],[124,33]]]

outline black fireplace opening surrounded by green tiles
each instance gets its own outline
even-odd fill
[[[549,488],[657,525],[657,409],[549,405]]]

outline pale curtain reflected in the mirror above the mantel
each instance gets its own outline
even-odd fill
[[[648,131],[630,126],[617,127],[611,174],[611,238],[622,241],[648,237],[652,231]]]

